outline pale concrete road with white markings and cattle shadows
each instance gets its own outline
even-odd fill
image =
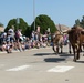
[[[0,53],[0,83],[84,83],[84,56],[73,62],[67,46],[63,54],[52,48]]]

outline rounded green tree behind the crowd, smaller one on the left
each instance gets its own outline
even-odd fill
[[[20,29],[22,29],[22,34],[28,35],[28,33],[25,33],[25,31],[29,30],[28,29],[29,25],[22,18],[19,18],[19,23],[18,23],[18,19],[11,19],[4,31],[8,31],[12,25],[14,27],[14,31],[20,28]]]

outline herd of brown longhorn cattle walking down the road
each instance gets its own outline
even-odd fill
[[[74,25],[70,30],[65,31],[64,33],[67,33],[69,35],[69,52],[71,53],[71,48],[74,53],[73,61],[76,62],[76,60],[80,59],[80,53],[82,51],[82,46],[84,48],[84,29]],[[56,46],[56,49],[55,49]],[[59,48],[61,48],[61,53],[63,52],[63,34],[55,34],[53,39],[53,51],[59,53]]]

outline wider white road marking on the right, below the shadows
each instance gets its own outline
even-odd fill
[[[61,66],[55,66],[53,69],[48,70],[48,72],[66,72],[71,69],[73,69],[74,66],[65,66],[65,65],[61,65]]]

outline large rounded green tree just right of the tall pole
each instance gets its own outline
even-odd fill
[[[45,33],[48,28],[50,28],[51,33],[56,31],[56,27],[50,17],[41,14],[35,19],[35,30],[40,27],[41,33]],[[31,31],[34,30],[34,22],[31,24]]]

